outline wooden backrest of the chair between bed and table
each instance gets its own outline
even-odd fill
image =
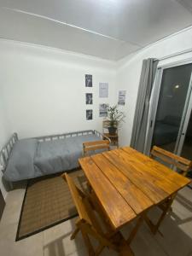
[[[90,151],[96,151],[98,149],[110,149],[108,140],[94,141],[83,143],[84,156],[89,154]]]

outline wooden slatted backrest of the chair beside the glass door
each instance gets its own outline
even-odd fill
[[[163,148],[159,148],[157,146],[154,146],[151,150],[151,157],[157,157],[160,160],[163,160],[167,164],[171,164],[173,166],[176,166],[178,169],[180,169],[183,173],[183,176],[189,172],[189,169],[192,167],[192,161],[187,160],[181,156],[178,156],[177,154],[173,154],[169,151],[166,151]]]

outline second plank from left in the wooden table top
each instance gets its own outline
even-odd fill
[[[113,184],[113,187],[119,191],[119,194],[125,198],[125,201],[127,201],[134,212],[140,214],[154,205],[154,202],[142,190],[138,189],[135,184],[131,183],[118,168],[113,166],[104,154],[93,155],[91,159],[102,170],[103,174]]]

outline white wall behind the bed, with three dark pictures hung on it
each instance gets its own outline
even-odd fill
[[[0,41],[0,84],[13,131],[19,137],[66,131],[102,131],[99,103],[113,103],[115,64],[32,44]],[[85,88],[84,74],[93,75]],[[99,99],[99,82],[108,82],[108,99]],[[85,119],[85,92],[93,92],[93,120]]]

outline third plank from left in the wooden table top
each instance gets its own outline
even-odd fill
[[[137,165],[133,161],[129,160],[128,154],[125,153],[123,155],[122,151],[123,150],[116,149],[103,154],[114,166],[116,166],[131,180],[131,183],[134,183],[139,189],[141,189],[143,193],[154,202],[154,204],[164,201],[169,194],[163,189],[160,189],[160,187],[154,184],[151,179],[148,180],[148,177],[144,175],[139,168],[137,168]]]

